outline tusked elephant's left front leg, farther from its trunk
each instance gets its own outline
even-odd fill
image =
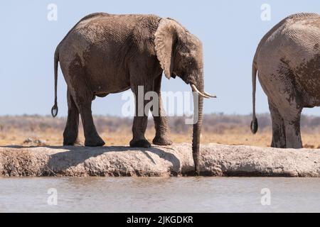
[[[150,92],[152,86],[132,86],[132,92],[135,95],[136,112],[134,116],[134,122],[132,126],[133,138],[130,141],[130,147],[132,148],[150,148],[151,144],[144,137],[146,133],[146,126],[148,125],[149,110],[145,110],[147,101],[144,99],[146,92]]]

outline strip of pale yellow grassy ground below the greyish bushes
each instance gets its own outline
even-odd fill
[[[151,142],[154,138],[154,129],[146,131],[146,138]],[[63,131],[33,131],[25,133],[13,129],[9,132],[0,133],[0,145],[62,145]],[[128,145],[132,139],[131,131],[120,132],[100,132],[100,136],[105,140],[106,145]],[[80,130],[80,143],[84,143],[85,138]],[[192,133],[170,133],[170,138],[174,143],[191,143]],[[270,147],[271,131],[263,131],[252,135],[240,133],[237,130],[225,131],[224,133],[212,133],[204,131],[201,134],[201,143],[218,143],[226,145],[253,145],[259,147]],[[304,148],[320,148],[320,134],[302,133]]]

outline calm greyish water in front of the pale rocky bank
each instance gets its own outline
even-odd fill
[[[319,189],[310,178],[1,178],[0,212],[319,212]]]

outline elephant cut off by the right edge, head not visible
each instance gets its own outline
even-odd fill
[[[302,109],[320,106],[320,16],[299,13],[279,22],[262,38],[252,67],[252,133],[256,74],[268,96],[274,148],[302,148]]]

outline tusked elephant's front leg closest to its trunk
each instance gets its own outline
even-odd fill
[[[156,128],[156,136],[152,143],[155,145],[171,145],[172,141],[168,137],[168,118],[166,118],[166,111],[164,111],[164,106],[161,99],[161,78],[162,74],[154,79],[154,92],[158,96],[155,104],[158,105],[158,108],[151,106],[151,112],[154,117],[154,127]]]

